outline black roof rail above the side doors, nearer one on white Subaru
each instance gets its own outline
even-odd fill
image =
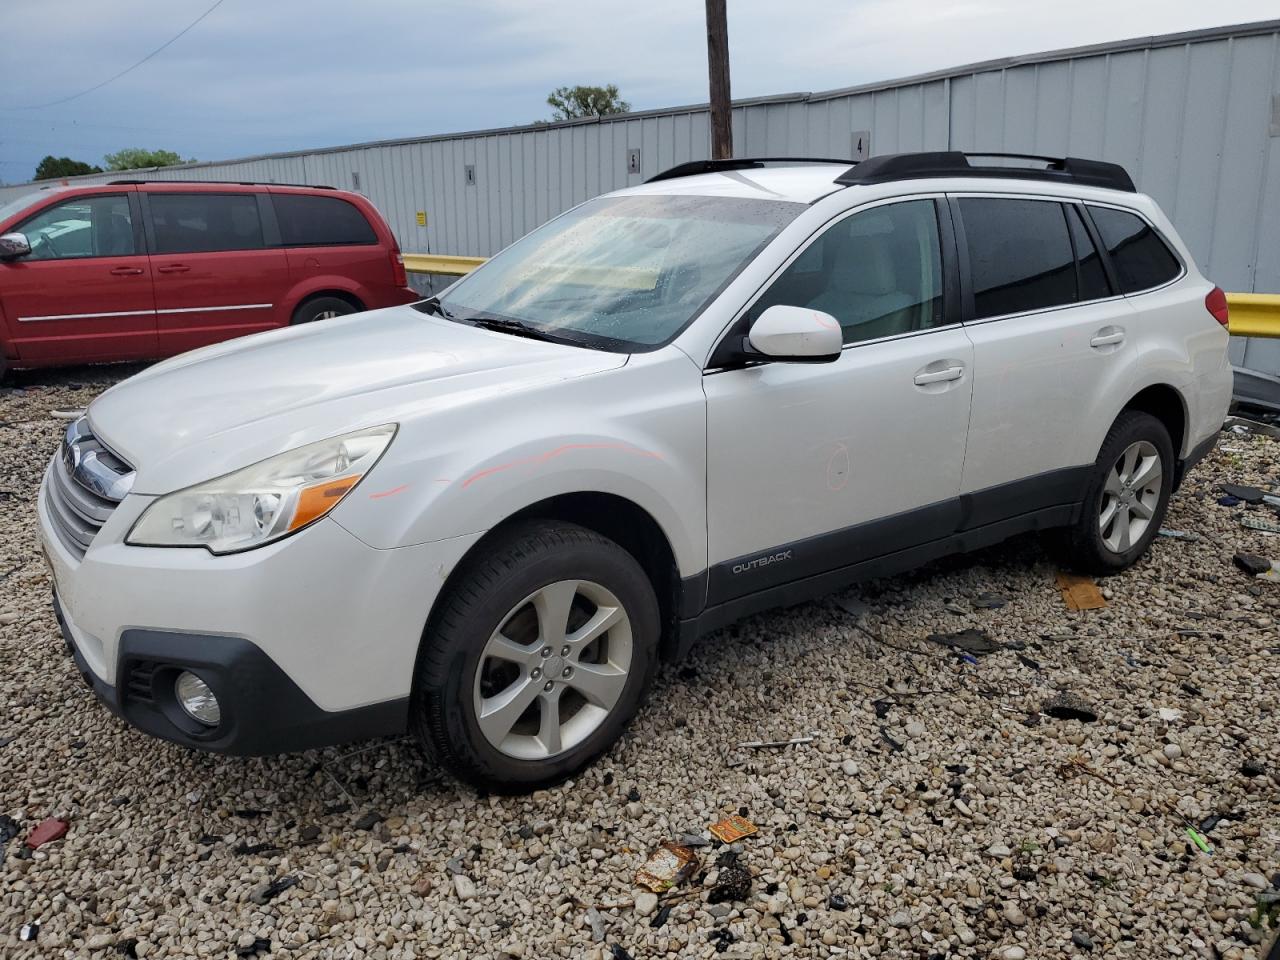
[[[969,157],[1030,160],[1043,166],[974,165]],[[1082,160],[1078,156],[1037,156],[1034,154],[963,154],[959,150],[932,154],[886,154],[854,164],[836,178],[851,187],[859,183],[888,183],[928,177],[997,177],[1020,180],[1059,180],[1088,187],[1106,187],[1137,193],[1129,172],[1120,164]]]

